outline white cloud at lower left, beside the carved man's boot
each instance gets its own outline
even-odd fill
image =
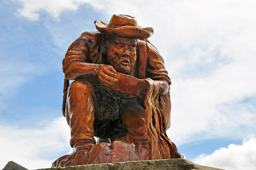
[[[72,149],[69,146],[70,130],[64,117],[47,122],[41,129],[0,125],[0,132],[1,168],[8,161],[30,170],[51,167],[56,158]]]

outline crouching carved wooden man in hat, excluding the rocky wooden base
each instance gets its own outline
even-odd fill
[[[98,31],[84,32],[63,60],[65,78],[74,80],[68,86],[64,109],[73,152],[89,152],[96,144],[94,136],[109,143],[148,141],[147,78],[159,89],[163,132],[170,127],[171,81],[163,58],[147,40],[153,29],[138,26],[135,17],[119,14],[109,23],[95,21],[95,25]]]

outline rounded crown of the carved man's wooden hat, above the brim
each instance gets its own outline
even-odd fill
[[[109,21],[108,28],[117,28],[120,26],[138,26],[137,19],[130,15],[114,14]]]

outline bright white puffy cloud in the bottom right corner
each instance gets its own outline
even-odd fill
[[[215,150],[212,154],[201,154],[193,162],[225,170],[255,170],[256,138],[244,139],[242,145],[230,144],[227,148]]]

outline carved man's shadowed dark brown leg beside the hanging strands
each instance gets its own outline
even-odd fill
[[[128,102],[123,105],[122,121],[129,132],[122,140],[136,143],[138,141],[148,141],[147,128],[145,124],[145,109],[136,102]]]

